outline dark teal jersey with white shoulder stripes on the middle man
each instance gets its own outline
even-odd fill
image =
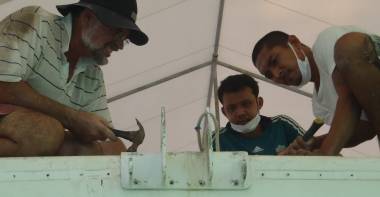
[[[249,155],[277,155],[288,147],[297,136],[302,136],[305,130],[292,118],[286,115],[275,117],[261,116],[260,125],[263,133],[256,137],[244,137],[232,129],[227,123],[219,135],[221,151],[246,151]],[[213,147],[215,149],[215,136]]]

